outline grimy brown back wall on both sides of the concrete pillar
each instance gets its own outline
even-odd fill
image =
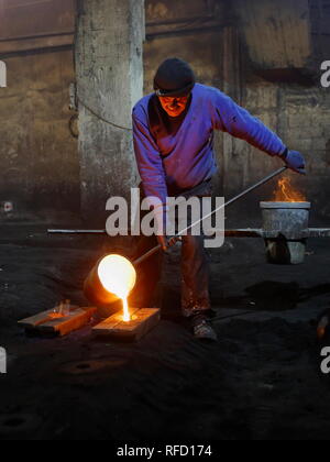
[[[284,9],[286,1],[278,0],[276,4]],[[323,0],[322,4],[330,2]],[[246,31],[239,25],[240,15],[231,8],[234,6],[220,0],[146,0],[144,92],[152,90],[161,61],[173,55],[187,59],[199,81],[228,92],[292,148],[306,154],[309,176],[293,176],[294,182],[329,221],[330,91],[321,88],[320,76],[312,76],[312,81],[309,75],[307,79],[296,78],[292,70],[289,78],[283,69],[277,74],[274,61],[271,74],[261,73],[258,63],[252,59],[261,56],[261,51],[249,47],[266,38],[261,34],[258,41],[246,40]],[[312,56],[317,65],[321,58],[330,59],[330,15],[326,8],[322,14],[316,0],[310,6]],[[67,23],[64,24],[63,31],[68,33]],[[67,128],[72,116],[67,91],[75,73],[73,52],[63,47],[70,46],[73,37],[65,36],[65,44],[61,42],[63,35],[44,40],[43,53],[35,54],[31,51],[41,45],[32,40],[15,44],[23,47],[20,54],[11,54],[12,44],[0,42],[0,59],[8,65],[9,80],[8,88],[0,88],[0,201],[15,200],[23,210],[28,206],[75,210],[79,207],[80,167],[77,143]],[[307,48],[299,50],[305,59]],[[216,144],[220,173],[215,183],[217,193],[224,190],[227,197],[282,165],[227,134],[219,134]],[[242,202],[242,213],[244,207],[257,212],[258,199],[270,197],[274,186]]]

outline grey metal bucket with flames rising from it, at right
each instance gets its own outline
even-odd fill
[[[270,263],[298,265],[306,255],[310,202],[261,202]]]

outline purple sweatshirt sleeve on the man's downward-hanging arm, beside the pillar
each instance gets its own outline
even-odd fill
[[[134,152],[146,197],[157,197],[166,204],[167,186],[162,156],[150,129],[133,112]]]

